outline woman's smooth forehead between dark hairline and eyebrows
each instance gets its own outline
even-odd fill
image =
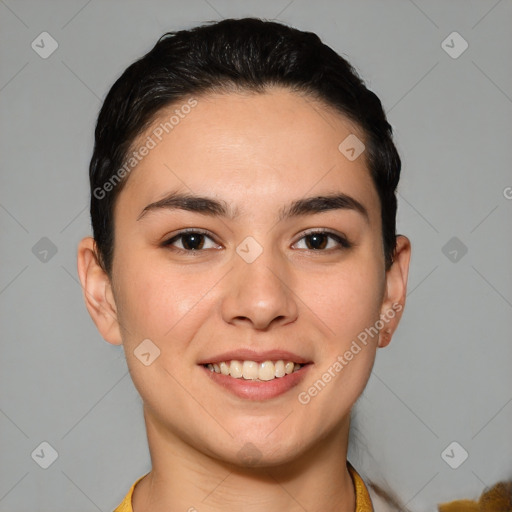
[[[363,133],[321,102],[282,88],[194,101],[193,107],[184,99],[163,109],[138,138],[135,151],[152,147],[130,172],[118,202],[127,196],[142,205],[177,187],[243,197],[231,205],[237,213],[309,192],[366,196],[368,209],[378,202],[364,152],[351,161],[339,149],[347,137],[364,141]]]

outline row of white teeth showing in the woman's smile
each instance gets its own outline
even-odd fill
[[[294,363],[293,361],[264,361],[257,363],[256,361],[222,361],[206,365],[207,368],[215,373],[229,375],[235,379],[246,380],[272,380],[281,378],[290,373],[296,372],[303,365]]]

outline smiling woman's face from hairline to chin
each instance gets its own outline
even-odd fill
[[[338,149],[364,140],[354,124],[285,89],[196,100],[168,134],[160,123],[180,105],[140,139],[156,145],[116,202],[115,321],[97,325],[122,342],[146,421],[165,436],[237,464],[252,443],[278,464],[346,428],[396,326],[403,272],[385,271],[364,153]],[[224,375],[232,360],[260,379]],[[283,373],[259,370],[268,360],[303,364],[265,380]]]

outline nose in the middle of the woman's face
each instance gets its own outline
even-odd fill
[[[223,319],[257,330],[266,330],[271,324],[291,323],[298,314],[292,290],[293,276],[286,262],[271,250],[263,250],[252,263],[235,254],[222,302]]]

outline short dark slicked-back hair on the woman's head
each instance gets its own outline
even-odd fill
[[[396,246],[395,190],[401,162],[380,100],[316,34],[244,18],[164,34],[107,94],[96,125],[89,178],[94,239],[109,275],[114,205],[126,182],[126,168],[120,170],[137,137],[164,107],[177,101],[208,92],[265,92],[274,85],[310,95],[362,128],[366,162],[381,202],[389,268]]]

